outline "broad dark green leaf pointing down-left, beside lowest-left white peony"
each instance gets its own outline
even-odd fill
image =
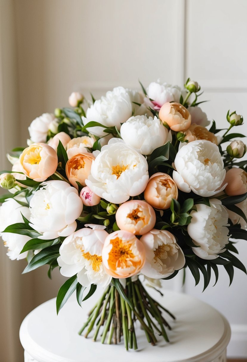
[[[59,247],[60,245],[53,245],[49,248],[41,250],[38,254],[34,255],[24,271],[22,271],[22,274],[28,273],[31,270],[39,268],[39,266],[49,264],[51,261],[57,259],[60,255]]]

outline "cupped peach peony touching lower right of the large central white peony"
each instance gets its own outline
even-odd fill
[[[150,177],[144,197],[155,209],[169,209],[172,199],[177,200],[177,185],[168,174],[157,172]]]

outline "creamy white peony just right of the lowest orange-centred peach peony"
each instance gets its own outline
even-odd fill
[[[146,261],[141,270],[146,277],[166,278],[175,270],[182,269],[185,257],[172,233],[153,229],[140,239],[145,247]]]

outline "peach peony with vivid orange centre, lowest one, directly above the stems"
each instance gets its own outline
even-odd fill
[[[133,233],[124,230],[109,234],[102,249],[102,261],[107,274],[127,278],[138,274],[145,263],[145,249]]]

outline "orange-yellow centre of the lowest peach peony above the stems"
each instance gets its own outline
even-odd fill
[[[116,268],[126,268],[126,266],[129,266],[129,262],[131,262],[132,265],[138,265],[138,262],[135,262],[133,259],[135,258],[135,255],[133,254],[133,251],[131,250],[132,244],[131,243],[123,243],[119,237],[116,237],[116,239],[111,240],[112,249],[109,252],[108,257],[108,264],[110,266],[110,269],[116,269]]]

